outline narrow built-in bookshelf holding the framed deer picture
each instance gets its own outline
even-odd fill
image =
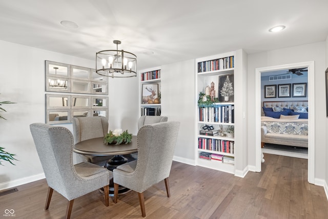
[[[161,115],[160,67],[139,71],[140,116]]]

